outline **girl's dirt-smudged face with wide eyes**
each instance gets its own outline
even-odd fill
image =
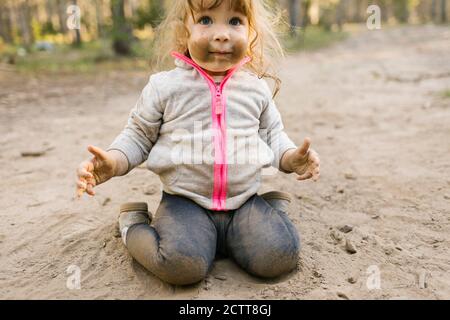
[[[194,19],[193,19],[194,18]],[[211,76],[223,76],[240,62],[249,45],[248,19],[230,9],[230,0],[189,15],[188,49],[192,60]]]

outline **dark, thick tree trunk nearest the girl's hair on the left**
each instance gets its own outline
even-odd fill
[[[118,55],[130,55],[131,30],[125,19],[124,0],[111,0],[111,15],[114,52]]]

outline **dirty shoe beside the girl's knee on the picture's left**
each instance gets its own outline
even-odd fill
[[[120,206],[119,230],[122,235],[122,241],[126,245],[126,235],[128,229],[140,223],[150,224],[151,214],[148,212],[146,202],[126,202]]]

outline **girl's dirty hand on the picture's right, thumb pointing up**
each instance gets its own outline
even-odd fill
[[[310,149],[311,139],[306,138],[303,145],[297,148],[291,155],[290,165],[293,172],[299,177],[297,180],[313,179],[317,181],[320,176],[319,154]]]

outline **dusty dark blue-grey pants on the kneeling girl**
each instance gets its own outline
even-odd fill
[[[216,257],[230,257],[248,273],[273,278],[296,268],[299,235],[287,214],[254,194],[240,208],[212,211],[163,191],[151,225],[130,227],[131,256],[175,285],[202,280]]]

